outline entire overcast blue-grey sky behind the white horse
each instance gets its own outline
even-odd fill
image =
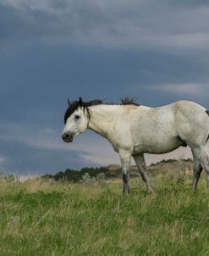
[[[0,169],[36,175],[118,163],[91,131],[61,141],[67,97],[129,95],[151,107],[188,99],[209,109],[208,24],[201,0],[1,0]]]

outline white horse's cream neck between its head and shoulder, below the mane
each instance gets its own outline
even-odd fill
[[[107,137],[108,131],[122,109],[117,105],[96,105],[89,108],[91,118],[88,128],[96,133]]]

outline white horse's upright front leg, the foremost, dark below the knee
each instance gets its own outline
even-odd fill
[[[128,150],[119,150],[119,156],[122,166],[122,175],[124,181],[124,195],[129,193],[129,170],[131,153]]]

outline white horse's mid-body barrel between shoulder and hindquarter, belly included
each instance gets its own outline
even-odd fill
[[[168,153],[178,148],[182,141],[175,127],[174,106],[156,109],[141,107],[133,115],[131,133],[134,153]]]

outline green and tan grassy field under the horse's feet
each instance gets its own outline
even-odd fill
[[[209,193],[201,177],[121,181],[0,181],[0,255],[209,255]]]

